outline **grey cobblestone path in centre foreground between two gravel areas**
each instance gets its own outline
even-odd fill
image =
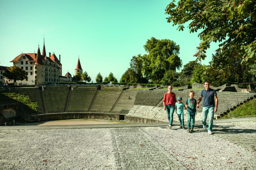
[[[187,169],[139,128],[111,130],[116,169]]]

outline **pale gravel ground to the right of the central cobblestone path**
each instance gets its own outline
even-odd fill
[[[255,129],[253,122],[218,123],[218,126]],[[161,127],[144,128],[160,145],[188,169],[256,169],[256,154],[246,151],[229,141],[208,135],[201,125],[195,126],[195,133],[174,126],[172,129]],[[214,130],[214,129],[213,129]],[[256,133],[255,133],[256,135]]]

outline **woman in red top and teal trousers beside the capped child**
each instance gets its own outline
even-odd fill
[[[175,110],[176,95],[172,92],[172,86],[168,86],[168,92],[164,94],[164,110],[167,112],[169,128],[172,129],[173,113]]]

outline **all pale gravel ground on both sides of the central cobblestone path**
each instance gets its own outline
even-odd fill
[[[219,123],[230,128],[256,129],[253,122]],[[188,169],[256,169],[256,154],[208,135],[196,126],[187,133],[179,126],[141,128]],[[256,135],[256,133],[254,133]],[[115,169],[110,128],[0,129],[0,169]]]

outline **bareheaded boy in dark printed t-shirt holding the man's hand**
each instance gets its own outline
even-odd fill
[[[194,99],[195,92],[189,92],[189,98],[186,100],[187,107],[187,133],[194,132],[195,115],[196,115],[196,99]],[[191,121],[192,119],[192,121]]]

